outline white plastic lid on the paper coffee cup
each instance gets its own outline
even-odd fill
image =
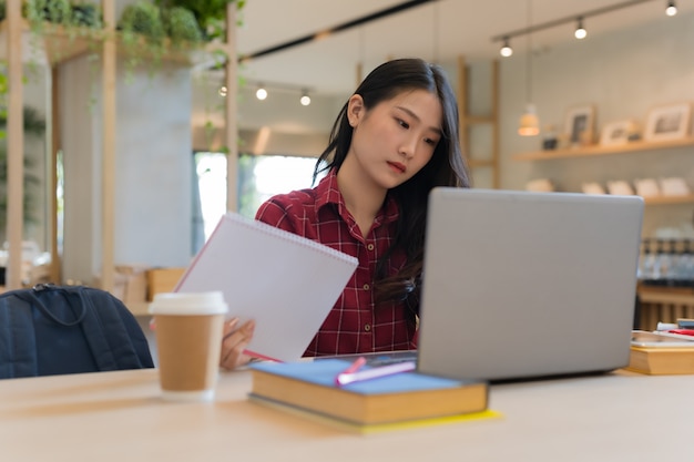
[[[224,294],[220,290],[207,292],[163,292],[156,294],[150,304],[151,315],[218,315],[228,311]]]

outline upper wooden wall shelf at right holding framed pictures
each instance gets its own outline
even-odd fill
[[[514,161],[551,161],[558,158],[590,157],[599,155],[629,154],[639,151],[670,150],[694,145],[694,137],[660,142],[632,142],[615,146],[593,145],[568,150],[537,151],[513,155]]]

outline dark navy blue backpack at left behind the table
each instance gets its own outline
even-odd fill
[[[0,295],[0,379],[152,367],[137,320],[105,290],[38,285]]]

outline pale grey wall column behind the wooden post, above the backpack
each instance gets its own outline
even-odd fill
[[[115,126],[115,264],[186,266],[192,234],[190,70],[164,65],[126,79],[119,63]],[[65,166],[63,278],[91,284],[101,269],[101,71],[61,66]],[[93,97],[93,100],[91,100]]]

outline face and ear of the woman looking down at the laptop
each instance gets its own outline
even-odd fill
[[[351,156],[365,177],[385,189],[401,185],[427,165],[442,136],[441,103],[425,90],[399,93],[368,111],[356,94],[347,114],[354,127],[347,158]]]

